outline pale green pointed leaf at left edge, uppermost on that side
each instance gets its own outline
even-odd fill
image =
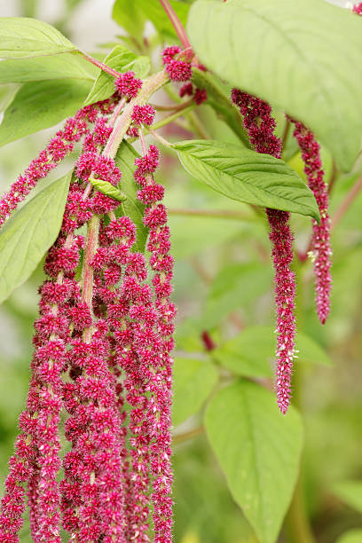
[[[0,59],[39,57],[77,51],[57,28],[28,17],[0,18]]]

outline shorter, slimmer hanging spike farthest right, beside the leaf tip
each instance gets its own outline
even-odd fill
[[[328,216],[328,192],[324,181],[324,171],[320,160],[319,144],[311,130],[307,130],[301,122],[295,122],[295,138],[301,148],[304,171],[308,185],[318,203],[320,223],[312,219],[313,233],[311,237],[311,252],[314,261],[316,277],[316,302],[319,320],[325,324],[330,309],[330,290],[332,278],[330,219]]]

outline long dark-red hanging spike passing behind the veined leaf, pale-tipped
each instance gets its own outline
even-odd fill
[[[250,143],[257,153],[281,156],[281,142],[273,134],[276,122],[271,117],[271,106],[238,89],[232,90],[232,101],[239,106],[248,130]],[[277,308],[277,402],[281,413],[286,414],[290,403],[291,374],[295,356],[295,274],[290,270],[293,260],[293,235],[288,220],[289,213],[267,209],[271,227],[269,238],[275,270],[275,302]]]

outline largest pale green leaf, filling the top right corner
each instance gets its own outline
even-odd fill
[[[351,169],[362,135],[358,17],[324,0],[197,0],[187,31],[209,69],[304,122]]]

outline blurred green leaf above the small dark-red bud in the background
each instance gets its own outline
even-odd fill
[[[271,268],[257,263],[229,264],[219,271],[211,285],[203,312],[204,327],[212,328],[237,309],[249,303],[271,287]]]

